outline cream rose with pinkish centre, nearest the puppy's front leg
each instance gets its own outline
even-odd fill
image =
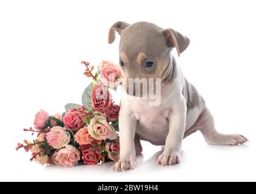
[[[116,131],[104,116],[95,116],[90,120],[88,132],[97,140],[116,139]]]

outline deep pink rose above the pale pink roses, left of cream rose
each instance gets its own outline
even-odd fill
[[[67,129],[76,132],[84,127],[83,118],[87,116],[86,107],[81,106],[75,109],[70,109],[63,118],[63,122]]]

